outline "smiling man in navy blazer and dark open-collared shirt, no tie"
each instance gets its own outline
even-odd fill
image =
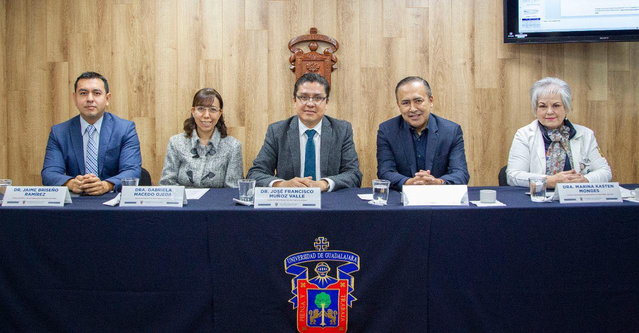
[[[403,185],[468,184],[461,127],[431,114],[431,87],[420,77],[407,77],[395,88],[401,115],[377,131],[377,176],[393,189]]]

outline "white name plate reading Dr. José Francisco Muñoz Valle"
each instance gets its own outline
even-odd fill
[[[320,188],[255,188],[255,208],[321,208]]]

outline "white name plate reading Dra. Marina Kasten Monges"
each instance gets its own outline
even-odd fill
[[[555,193],[559,203],[622,202],[619,182],[559,183]]]

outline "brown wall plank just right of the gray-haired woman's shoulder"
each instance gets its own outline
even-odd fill
[[[636,182],[637,169],[635,161],[639,157],[636,144],[636,129],[639,115],[635,110],[627,110],[633,104],[629,86],[629,71],[608,71],[607,102],[608,133],[606,146],[613,148],[613,153],[606,159],[612,168],[613,178],[621,183]],[[622,110],[626,109],[627,112]],[[598,112],[601,114],[601,112]],[[597,138],[598,139],[598,138]],[[597,143],[599,143],[597,141]],[[625,151],[624,153],[619,153]]]

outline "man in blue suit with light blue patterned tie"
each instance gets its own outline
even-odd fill
[[[73,89],[80,114],[52,126],[42,184],[88,195],[118,191],[122,178],[140,177],[142,157],[135,124],[104,112],[111,93],[102,75],[84,72]]]

